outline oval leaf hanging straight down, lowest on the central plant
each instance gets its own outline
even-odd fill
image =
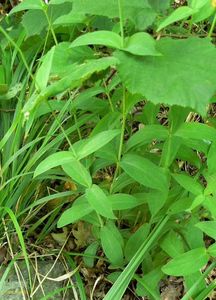
[[[105,225],[100,230],[100,239],[103,251],[112,265],[122,266],[123,251],[119,238],[113,232],[113,229]]]

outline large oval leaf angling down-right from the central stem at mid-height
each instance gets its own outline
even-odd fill
[[[150,160],[137,154],[126,154],[120,166],[140,184],[163,192],[167,191],[168,183],[165,173]]]

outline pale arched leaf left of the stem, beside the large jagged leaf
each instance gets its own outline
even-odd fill
[[[84,45],[104,45],[111,48],[121,48],[121,37],[115,32],[100,30],[88,32],[76,38],[71,47],[78,47]]]

